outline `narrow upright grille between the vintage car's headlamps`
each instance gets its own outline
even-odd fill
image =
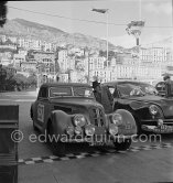
[[[100,108],[91,107],[89,109],[90,121],[96,127],[105,126],[104,111]]]

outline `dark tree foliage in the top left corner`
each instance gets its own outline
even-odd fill
[[[8,1],[1,1],[0,2],[0,26],[2,28],[7,21],[7,2]]]

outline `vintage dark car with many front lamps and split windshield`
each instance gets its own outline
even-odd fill
[[[66,153],[72,143],[106,146],[109,139],[116,150],[127,150],[137,133],[132,115],[123,109],[106,114],[87,84],[43,84],[30,115],[33,128],[47,137],[54,154]]]

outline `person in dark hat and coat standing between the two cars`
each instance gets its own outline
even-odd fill
[[[107,86],[101,86],[97,80],[93,82],[94,95],[98,103],[104,106],[106,114],[112,112],[113,98]]]

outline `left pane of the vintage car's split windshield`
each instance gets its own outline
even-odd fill
[[[53,87],[50,89],[50,97],[72,96],[71,87]]]

